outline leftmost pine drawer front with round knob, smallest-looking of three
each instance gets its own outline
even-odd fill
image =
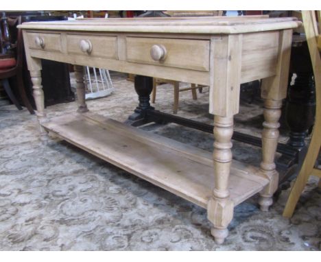
[[[61,51],[60,34],[27,33],[29,48],[47,51]]]

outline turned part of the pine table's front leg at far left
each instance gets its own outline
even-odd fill
[[[41,85],[41,71],[30,71],[30,76],[32,80],[32,88],[34,90],[34,102],[36,104],[36,115],[38,118],[38,122],[40,125],[40,139],[42,141],[47,141],[47,131],[43,126],[41,126],[41,123],[46,121],[46,114],[45,114],[45,96],[43,94],[43,86]]]

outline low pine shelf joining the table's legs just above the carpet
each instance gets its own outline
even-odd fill
[[[87,112],[43,123],[50,132],[131,174],[206,209],[214,188],[211,152]],[[259,169],[233,160],[229,190],[237,205],[258,193],[268,179]]]

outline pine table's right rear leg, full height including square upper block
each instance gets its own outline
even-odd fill
[[[278,119],[281,117],[282,99],[287,95],[289,60],[292,45],[292,29],[281,32],[278,40],[276,75],[262,80],[261,97],[265,99],[264,123],[262,133],[262,176],[270,179],[270,184],[260,192],[261,211],[268,211],[272,196],[278,187],[278,172],[274,163],[278,143]]]

